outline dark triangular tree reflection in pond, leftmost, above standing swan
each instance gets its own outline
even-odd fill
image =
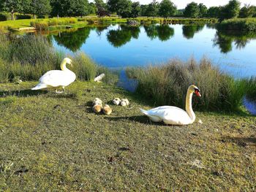
[[[89,37],[90,31],[91,28],[85,27],[75,31],[61,32],[58,35],[53,35],[53,38],[58,45],[62,45],[67,47],[69,50],[76,52],[77,50],[80,50],[80,47],[82,47],[84,43],[86,43],[86,39]]]

